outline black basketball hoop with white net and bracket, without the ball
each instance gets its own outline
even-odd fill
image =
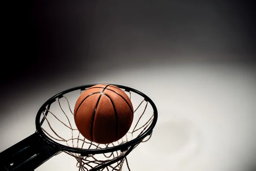
[[[154,102],[145,94],[130,87],[111,84],[123,90],[131,99],[134,106],[134,119],[130,130],[121,139],[109,144],[97,144],[85,139],[73,119],[73,109],[76,99],[84,90],[96,84],[84,85],[65,90],[50,98],[38,110],[35,125],[36,132],[11,147],[1,152],[0,156],[9,153],[15,154],[15,150],[26,145],[29,139],[38,139],[38,144],[32,150],[41,148],[41,151],[47,151],[42,154],[38,164],[33,166],[23,165],[20,169],[33,170],[41,163],[54,155],[64,152],[76,159],[74,165],[79,171],[122,171],[126,164],[129,171],[127,155],[131,153],[140,143],[147,142],[152,136],[152,130],[157,122],[157,108]],[[38,136],[39,135],[39,136]],[[36,142],[35,140],[33,140]],[[42,143],[43,142],[43,143]],[[35,152],[39,154],[39,152]],[[45,152],[46,153],[46,152]],[[9,154],[10,156],[10,154]],[[1,165],[14,168],[15,161],[6,160]],[[6,168],[8,170],[8,168]],[[8,170],[9,171],[9,170]]]

